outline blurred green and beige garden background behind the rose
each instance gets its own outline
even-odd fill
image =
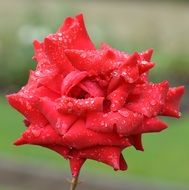
[[[4,95],[27,81],[32,41],[54,33],[67,16],[83,13],[91,39],[128,51],[154,49],[151,80],[185,85],[182,118],[144,135],[145,152],[125,151],[127,172],[87,161],[78,189],[189,189],[189,1],[0,0],[0,190],[68,189],[68,163],[49,150],[14,147],[22,117]]]

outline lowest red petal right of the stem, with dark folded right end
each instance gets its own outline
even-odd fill
[[[121,154],[122,149],[114,146],[97,146],[78,151],[78,157],[96,160],[110,165],[114,170],[126,170],[127,165]]]

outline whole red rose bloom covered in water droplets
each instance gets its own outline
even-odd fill
[[[35,71],[8,96],[25,116],[15,144],[52,149],[70,161],[73,176],[93,159],[126,170],[122,150],[143,150],[143,133],[167,126],[157,116],[180,117],[184,87],[148,81],[152,49],[132,55],[91,42],[82,15],[67,18],[57,33],[34,41]]]

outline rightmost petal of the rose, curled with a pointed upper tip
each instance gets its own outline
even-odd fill
[[[169,88],[167,93],[167,98],[165,100],[165,105],[163,106],[162,115],[180,117],[179,105],[180,100],[184,94],[184,86],[179,86],[175,88]]]

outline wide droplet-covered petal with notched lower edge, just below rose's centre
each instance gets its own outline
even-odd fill
[[[128,136],[141,124],[142,118],[142,115],[127,109],[108,113],[92,112],[87,115],[86,127],[97,132],[117,131],[122,136]]]

